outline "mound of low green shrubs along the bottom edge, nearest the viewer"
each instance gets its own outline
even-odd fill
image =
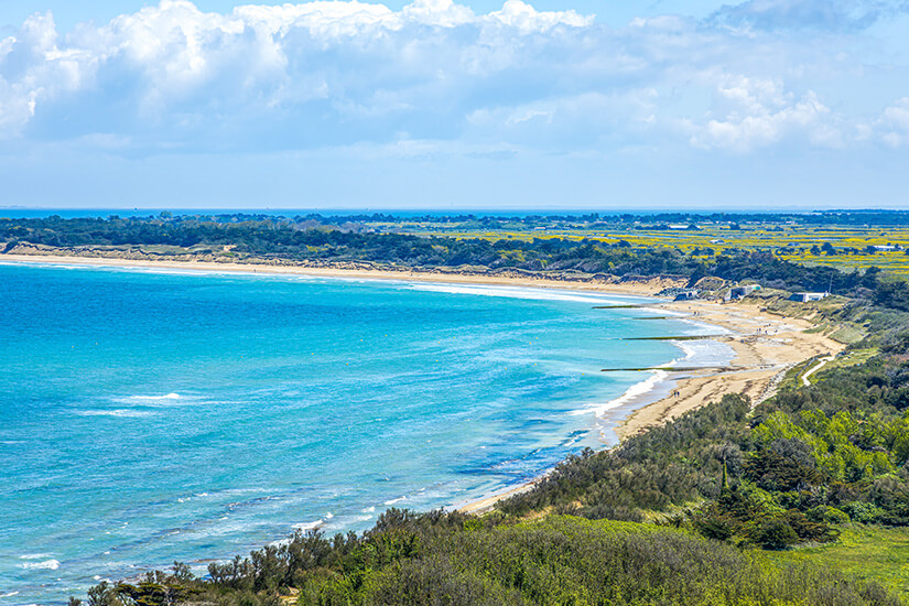
[[[224,605],[277,605],[280,594],[325,606],[901,604],[874,583],[780,569],[683,531],[564,517],[484,526],[390,511],[361,539],[301,534],[236,567],[217,581],[104,586],[95,604],[166,604],[169,587],[182,600]]]

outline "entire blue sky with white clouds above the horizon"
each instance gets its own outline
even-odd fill
[[[909,209],[909,0],[2,0],[0,206]]]

